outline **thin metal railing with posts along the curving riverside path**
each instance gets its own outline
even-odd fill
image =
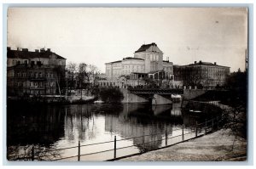
[[[109,158],[106,161],[115,161],[115,160],[124,158],[126,156],[138,155],[138,154],[143,154],[145,152],[148,152],[148,151],[143,151],[143,152],[138,152],[138,153],[131,153],[131,154],[127,154],[127,155],[121,155],[121,156],[117,157],[119,149],[128,149],[128,148],[131,148],[131,147],[138,147],[138,146],[142,146],[142,145],[145,146],[145,144],[151,144],[151,143],[154,143],[154,142],[164,141],[163,143],[161,143],[161,145],[162,144],[164,144],[164,145],[157,148],[157,149],[162,149],[162,148],[165,148],[165,147],[172,146],[174,144],[182,143],[182,142],[187,141],[189,139],[201,137],[202,135],[206,135],[209,132],[213,132],[215,130],[220,129],[223,125],[224,125],[224,116],[220,115],[220,116],[212,118],[210,120],[206,119],[206,121],[201,122],[201,123],[197,123],[197,121],[196,121],[195,125],[192,126],[191,131],[189,131],[189,132],[184,131],[184,125],[182,126],[182,128],[177,128],[175,130],[172,130],[172,132],[174,132],[174,131],[180,131],[181,132],[181,134],[176,135],[176,136],[172,136],[172,137],[168,136],[167,130],[165,132],[147,134],[147,135],[142,135],[142,136],[137,136],[137,137],[132,137],[132,138],[117,139],[116,136],[114,136],[113,140],[106,141],[106,142],[81,145],[80,141],[79,141],[78,146],[61,148],[61,149],[50,149],[50,150],[37,151],[36,148],[32,147],[31,152],[29,153],[29,155],[24,155],[24,156],[26,156],[26,160],[28,160],[28,161],[35,161],[35,160],[36,161],[45,161],[44,157],[48,157],[49,161],[61,161],[61,160],[67,160],[67,159],[73,159],[73,158],[77,158],[77,161],[80,161],[80,158],[82,156],[84,157],[86,155],[96,155],[96,154],[101,154],[101,153],[106,153],[106,152],[113,151],[113,158]],[[189,134],[190,134],[190,137],[189,137]],[[129,140],[129,139],[134,139],[134,138],[143,138],[143,137],[154,136],[154,135],[161,135],[161,139],[152,140],[152,141],[148,141],[148,142],[143,142],[142,144],[132,144],[132,145],[127,145],[127,146],[124,146],[124,147],[117,148],[117,144],[120,141],[125,141],[125,140]],[[174,139],[176,139],[176,138],[180,138],[180,139],[177,142],[175,142]],[[102,144],[111,144],[111,143],[113,144],[113,149],[105,149],[105,150],[90,152],[90,153],[85,153],[85,154],[81,153],[81,148],[83,148],[83,147],[90,147],[90,146],[93,146],[93,145],[102,145]],[[168,143],[170,143],[170,144],[168,144]],[[51,155],[51,152],[57,152],[57,151],[67,150],[67,149],[78,149],[78,154],[77,155],[72,155],[72,156],[66,156],[66,157],[61,157],[61,155],[60,155],[60,158],[55,158],[54,155]],[[151,150],[155,150],[155,149],[150,149],[150,151]],[[9,160],[15,160],[15,159],[16,160],[22,160],[22,158],[20,158],[19,155],[18,156],[17,155],[8,156],[8,159]]]

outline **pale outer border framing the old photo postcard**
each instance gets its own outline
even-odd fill
[[[19,3],[19,5],[20,6],[38,6],[38,5],[43,5],[43,6],[80,6],[81,5],[81,3],[90,3],[90,4],[83,4],[83,5],[86,5],[86,6],[152,6],[152,7],[154,7],[154,6],[165,6],[166,4],[165,3],[170,3],[168,0],[160,0],[160,1],[157,1],[157,0],[147,0],[147,2],[145,3],[145,1],[144,0],[137,0],[137,1],[128,1],[128,0],[124,0],[124,1],[118,1],[118,0],[115,0],[115,1],[100,1],[100,0],[96,0],[96,1],[82,1],[82,0],[73,0],[72,2],[67,2],[67,1],[65,1],[65,0],[55,0],[55,1],[50,1],[50,0],[45,0],[45,1],[43,1],[43,0],[40,0],[40,1],[32,1],[32,0],[23,0],[22,1],[22,3],[20,3],[20,1],[19,0],[3,0],[3,3],[9,3],[9,5],[15,5],[15,4],[10,4],[10,3]],[[2,65],[2,70],[0,70],[0,76],[1,76],[1,83],[0,83],[0,88],[2,88],[2,94],[0,94],[0,103],[2,104],[2,108],[4,109],[4,106],[5,106],[5,104],[3,103],[3,102],[5,102],[5,97],[3,97],[4,96],[4,94],[5,93],[3,93],[4,91],[5,91],[5,87],[6,87],[6,85],[5,85],[5,82],[6,82],[6,80],[5,80],[5,76],[6,76],[6,66],[3,64],[3,63],[6,63],[6,57],[4,57],[4,50],[6,51],[6,27],[4,27],[4,26],[6,26],[6,25],[4,25],[4,20],[6,20],[6,18],[4,18],[4,15],[3,15],[3,9],[6,7],[6,6],[3,6],[3,3],[2,3],[2,5],[1,5],[1,11],[2,11],[2,13],[1,13],[1,19],[2,19],[2,23],[3,23],[3,27],[2,27],[2,31],[1,31],[1,37],[3,37],[2,39],[3,39],[3,41],[1,42],[1,44],[2,44],[2,54],[3,54],[3,57],[1,57],[0,58],[0,63],[1,63],[1,65]],[[31,4],[27,4],[27,3],[31,3]],[[33,3],[33,4],[32,4]],[[48,4],[46,4],[46,3],[48,3]],[[63,3],[65,3],[65,4],[63,4]],[[115,4],[114,4],[115,3]],[[121,3],[123,3],[123,4],[121,4]],[[126,4],[124,4],[124,3],[126,3]],[[149,3],[151,3],[151,4],[149,4]],[[176,4],[175,4],[176,3]],[[178,3],[178,4],[177,4]],[[235,5],[236,6],[240,6],[240,5],[244,5],[244,3],[252,3],[252,5],[254,4],[254,1],[253,0],[247,0],[247,1],[244,1],[244,0],[237,0],[237,1],[231,1],[231,0],[215,0],[215,1],[203,1],[203,0],[199,0],[199,1],[189,1],[189,0],[180,0],[180,1],[178,1],[178,0],[176,0],[176,1],[172,1],[172,5],[173,6],[186,6],[186,5],[188,5],[188,4],[182,4],[182,3],[189,3],[189,6],[190,5],[194,5],[194,6],[227,6],[227,5],[229,5],[228,3],[232,3],[231,5],[234,5],[234,3],[236,3]],[[196,4],[196,3],[203,3],[203,4]],[[170,4],[169,4],[170,5]],[[254,14],[251,14],[250,16],[249,16],[249,24],[251,24],[252,23],[252,21],[251,20],[253,20],[253,23],[254,23],[254,21],[255,21],[255,17],[254,17]],[[252,28],[252,26],[253,25],[250,25],[251,27],[250,28]],[[253,28],[252,28],[253,29]],[[250,31],[253,31],[253,30],[250,30]],[[249,110],[250,110],[250,117],[251,117],[251,114],[253,114],[253,97],[255,96],[255,93],[254,93],[254,91],[253,91],[253,84],[255,84],[255,78],[253,78],[254,77],[254,75],[253,75],[253,65],[255,64],[255,61],[254,61],[254,59],[253,59],[253,38],[254,37],[254,34],[252,34],[252,32],[249,32],[249,38],[250,38],[250,47],[249,47],[249,77],[250,77],[250,82],[249,82],[249,104],[250,104],[250,107],[249,107]],[[0,109],[1,110],[1,112],[0,112],[0,115],[1,115],[1,119],[2,119],[2,121],[0,122],[0,126],[1,127],[3,127],[3,109]],[[254,126],[254,124],[253,124],[253,120],[255,121],[255,116],[256,115],[253,115],[253,119],[252,118],[249,118],[248,119],[248,122],[250,123],[250,126],[249,126],[249,134],[250,133],[253,133],[253,135],[255,136],[255,130],[254,130],[254,132],[253,132],[253,126]],[[4,129],[4,127],[3,127],[3,129]],[[4,132],[3,132],[4,133]],[[251,135],[251,134],[250,134]],[[5,145],[3,145],[3,143],[5,143],[5,141],[3,142],[3,139],[5,139],[6,137],[5,136],[3,136],[3,137],[1,137],[1,140],[0,140],[0,144],[2,145],[1,147],[0,147],[0,150],[1,150],[1,152],[3,152],[3,147],[5,146]],[[253,146],[253,138],[249,138],[248,139],[248,141],[249,141],[249,145],[251,146]],[[251,147],[252,148],[252,147]],[[255,146],[253,146],[253,149],[248,149],[248,151],[250,151],[250,152],[252,152],[252,155],[254,154],[254,152],[255,152]],[[4,152],[3,152],[4,153]],[[3,155],[3,154],[2,154]],[[3,165],[9,165],[9,164],[7,164],[6,163],[6,161],[3,161],[3,158],[4,158],[4,156],[3,156],[3,158],[1,158],[1,156],[2,155],[0,155],[0,161],[1,161],[1,163],[3,164]],[[252,156],[249,156],[249,158],[251,158],[251,159],[249,159],[249,160],[251,160],[251,162],[253,162],[253,157]],[[4,163],[3,163],[4,162]],[[104,168],[105,167],[111,167],[111,168],[116,168],[116,167],[122,167],[122,168],[127,168],[127,167],[132,167],[132,166],[139,166],[139,167],[141,167],[141,166],[144,166],[144,165],[146,165],[145,167],[147,167],[147,168],[155,168],[155,166],[160,166],[160,167],[170,167],[170,166],[163,166],[163,165],[172,165],[172,166],[175,166],[175,168],[183,168],[183,167],[189,167],[189,168],[205,168],[206,166],[205,165],[207,165],[207,168],[216,168],[216,166],[215,165],[220,165],[220,166],[218,166],[218,167],[232,167],[232,168],[240,168],[240,167],[244,167],[243,165],[248,165],[248,164],[243,164],[242,166],[241,166],[241,164],[240,164],[240,162],[230,162],[230,163],[227,163],[227,164],[224,164],[224,163],[216,163],[216,162],[212,162],[212,163],[209,163],[209,162],[207,162],[207,163],[205,163],[205,162],[199,162],[199,164],[196,164],[195,162],[154,162],[154,163],[152,163],[152,162],[136,162],[136,163],[131,163],[131,162],[129,162],[129,163],[121,163],[121,162],[111,162],[111,163],[109,163],[109,162],[93,162],[93,163],[77,163],[77,162],[61,162],[61,163],[59,163],[59,162],[56,162],[56,163],[49,163],[49,162],[44,162],[44,163],[37,163],[37,167],[38,168],[42,168],[42,167],[44,167],[44,166],[38,166],[38,165],[51,165],[51,166],[53,166],[53,165],[61,165],[61,167],[63,167],[63,168],[70,168],[70,166],[73,166],[73,165],[79,165],[79,164],[82,164],[82,165],[99,165],[99,166],[104,166]],[[24,165],[24,162],[14,162],[14,163],[12,163],[11,165]],[[27,165],[27,164],[26,164]],[[29,164],[28,164],[29,165]],[[30,165],[32,165],[32,164],[30,164]],[[112,165],[115,165],[115,166],[112,166]],[[116,166],[116,165],[122,165],[122,166]],[[123,166],[123,165],[130,165],[130,166]],[[131,166],[132,165],[132,166]],[[148,165],[150,165],[150,166],[148,166]],[[183,165],[183,166],[180,166],[180,165]],[[200,165],[200,166],[196,166],[196,165]],[[213,166],[208,166],[208,165],[213,165]],[[226,165],[228,165],[228,166],[226,166]],[[89,167],[89,166],[86,166],[86,167]],[[90,166],[90,167],[97,167],[97,166]],[[254,166],[254,164],[253,164],[253,166]],[[253,168],[253,166],[246,166],[247,168]],[[4,168],[9,168],[9,167],[21,167],[21,168],[34,168],[34,166],[3,166]],[[49,167],[49,166],[47,166],[47,167]],[[53,167],[56,167],[56,166],[53,166]],[[84,166],[75,166],[75,167],[83,167],[84,168]]]

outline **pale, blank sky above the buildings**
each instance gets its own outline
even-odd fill
[[[155,42],[174,65],[217,62],[245,69],[247,8],[9,8],[8,46],[50,48],[96,65]]]

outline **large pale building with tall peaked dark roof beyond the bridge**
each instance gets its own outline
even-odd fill
[[[166,84],[173,80],[173,64],[163,60],[163,52],[154,42],[143,44],[134,57],[106,63],[106,78],[98,82],[102,87],[126,87],[144,85],[148,78],[165,80]]]

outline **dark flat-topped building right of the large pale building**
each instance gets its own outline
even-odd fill
[[[196,62],[190,65],[173,65],[175,81],[183,81],[185,86],[201,84],[203,87],[222,86],[230,75],[230,67],[209,62]]]

